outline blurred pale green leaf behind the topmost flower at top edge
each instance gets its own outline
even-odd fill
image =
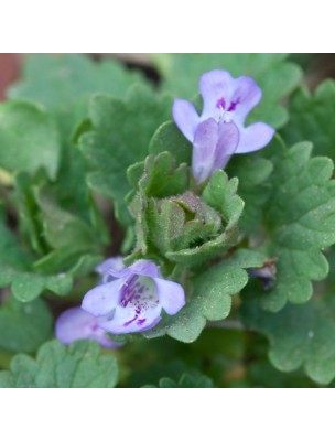
[[[288,120],[288,111],[278,101],[293,90],[301,69],[285,61],[284,54],[160,54],[153,61],[164,77],[163,89],[190,99],[198,92],[202,74],[227,69],[234,77],[249,75],[262,88],[262,100],[249,122],[264,121],[279,128]]]

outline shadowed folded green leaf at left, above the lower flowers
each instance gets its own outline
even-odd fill
[[[83,218],[63,209],[56,200],[57,192],[43,175],[30,178],[20,173],[15,176],[15,184],[14,200],[20,213],[20,229],[40,257],[33,265],[34,269],[47,275],[73,272],[85,255],[93,254],[94,259],[102,254],[102,247],[107,244],[105,225],[96,216],[89,197],[86,211],[91,211],[91,216],[87,219],[87,216]]]

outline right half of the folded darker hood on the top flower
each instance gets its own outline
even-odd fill
[[[239,143],[239,131],[234,122],[219,125],[218,133],[213,172],[226,166]]]

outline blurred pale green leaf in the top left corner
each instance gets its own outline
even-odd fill
[[[132,84],[143,82],[139,73],[111,60],[94,62],[80,54],[36,54],[26,57],[23,79],[9,89],[9,97],[43,104],[57,115],[63,137],[68,140],[88,117],[93,94],[123,98]]]

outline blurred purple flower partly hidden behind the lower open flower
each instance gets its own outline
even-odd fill
[[[104,319],[97,319],[82,308],[72,308],[61,314],[56,321],[56,338],[64,344],[77,340],[95,340],[105,347],[118,347],[119,343],[112,342],[100,325]]]

